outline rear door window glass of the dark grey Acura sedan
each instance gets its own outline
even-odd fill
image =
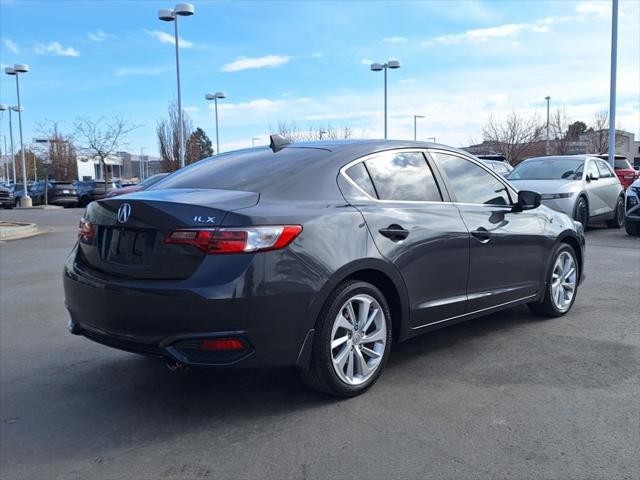
[[[442,201],[422,153],[385,153],[364,163],[380,200]]]

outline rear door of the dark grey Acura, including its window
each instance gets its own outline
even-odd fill
[[[400,271],[420,328],[466,310],[469,233],[423,151],[359,159],[342,173],[367,195],[354,205],[378,251]]]

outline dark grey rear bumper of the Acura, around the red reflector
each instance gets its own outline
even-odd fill
[[[259,263],[249,264],[251,278],[243,274],[212,286],[195,281],[198,272],[188,280],[134,282],[105,280],[77,264],[72,253],[63,275],[69,329],[103,345],[184,364],[297,365],[315,322],[309,305],[323,281],[316,276],[267,284],[255,277]],[[245,348],[200,349],[203,339],[221,337],[240,339]]]

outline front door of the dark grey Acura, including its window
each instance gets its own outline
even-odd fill
[[[446,150],[429,154],[470,232],[467,312],[533,298],[550,248],[540,213],[513,211],[513,189],[480,162]]]

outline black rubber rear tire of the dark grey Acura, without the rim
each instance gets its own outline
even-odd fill
[[[329,390],[340,396],[353,397],[364,393],[371,388],[378,377],[380,377],[380,374],[382,373],[382,370],[389,358],[392,341],[391,311],[382,292],[369,283],[362,281],[349,282],[342,288],[337,289],[336,292],[337,294],[333,294],[329,297],[322,313],[320,314],[314,338],[314,361],[316,362],[315,366],[318,369],[318,375],[322,382],[329,387]],[[385,343],[385,351],[380,365],[371,378],[367,379],[366,382],[360,385],[348,385],[338,377],[338,374],[333,368],[333,360],[331,356],[331,334],[333,323],[340,309],[349,298],[359,294],[372,296],[382,307],[387,323],[387,341]]]

